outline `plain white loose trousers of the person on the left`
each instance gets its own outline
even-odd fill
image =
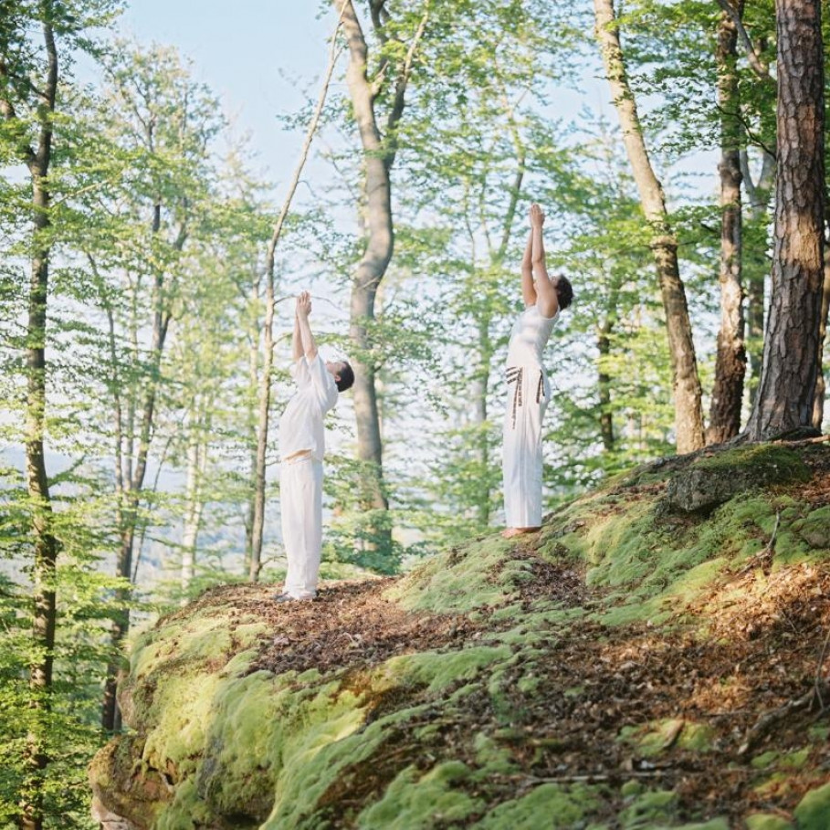
[[[322,463],[303,456],[279,465],[282,543],[289,560],[286,594],[307,599],[317,594],[322,548]]]

